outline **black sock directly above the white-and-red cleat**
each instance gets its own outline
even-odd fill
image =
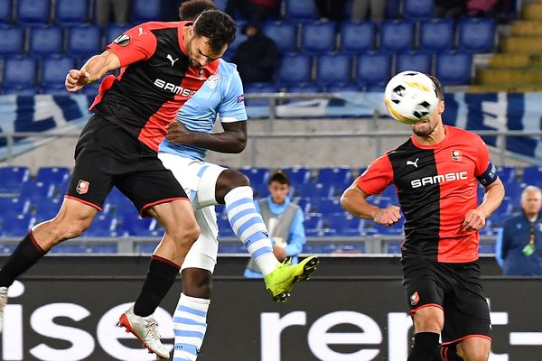
[[[149,264],[143,289],[134,304],[134,313],[146,317],[154,313],[160,302],[173,286],[181,269],[177,264],[158,255],[153,255]]]

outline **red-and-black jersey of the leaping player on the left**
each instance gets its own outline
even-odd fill
[[[142,23],[107,45],[120,60],[120,74],[103,79],[90,109],[157,151],[165,127],[219,67],[220,60],[190,65],[182,28],[191,24]]]

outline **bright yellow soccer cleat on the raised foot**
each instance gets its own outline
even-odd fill
[[[290,292],[296,282],[308,280],[316,271],[318,257],[311,255],[299,264],[290,264],[290,260],[278,264],[276,269],[264,277],[267,291],[273,301],[285,302],[290,297]]]

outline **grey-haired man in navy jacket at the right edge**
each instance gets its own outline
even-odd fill
[[[497,236],[496,258],[507,276],[542,276],[542,191],[521,193],[523,214],[509,218]]]

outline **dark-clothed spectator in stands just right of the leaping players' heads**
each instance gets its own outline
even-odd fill
[[[243,29],[247,40],[241,42],[233,56],[244,83],[267,83],[273,81],[277,49],[273,39],[267,37],[256,26]]]

